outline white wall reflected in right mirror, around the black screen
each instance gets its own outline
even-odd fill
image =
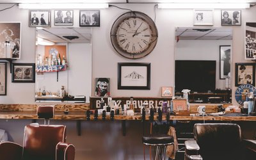
[[[216,61],[216,88],[225,90],[225,79],[220,79],[220,45],[232,45],[232,40],[179,40],[175,60]]]

